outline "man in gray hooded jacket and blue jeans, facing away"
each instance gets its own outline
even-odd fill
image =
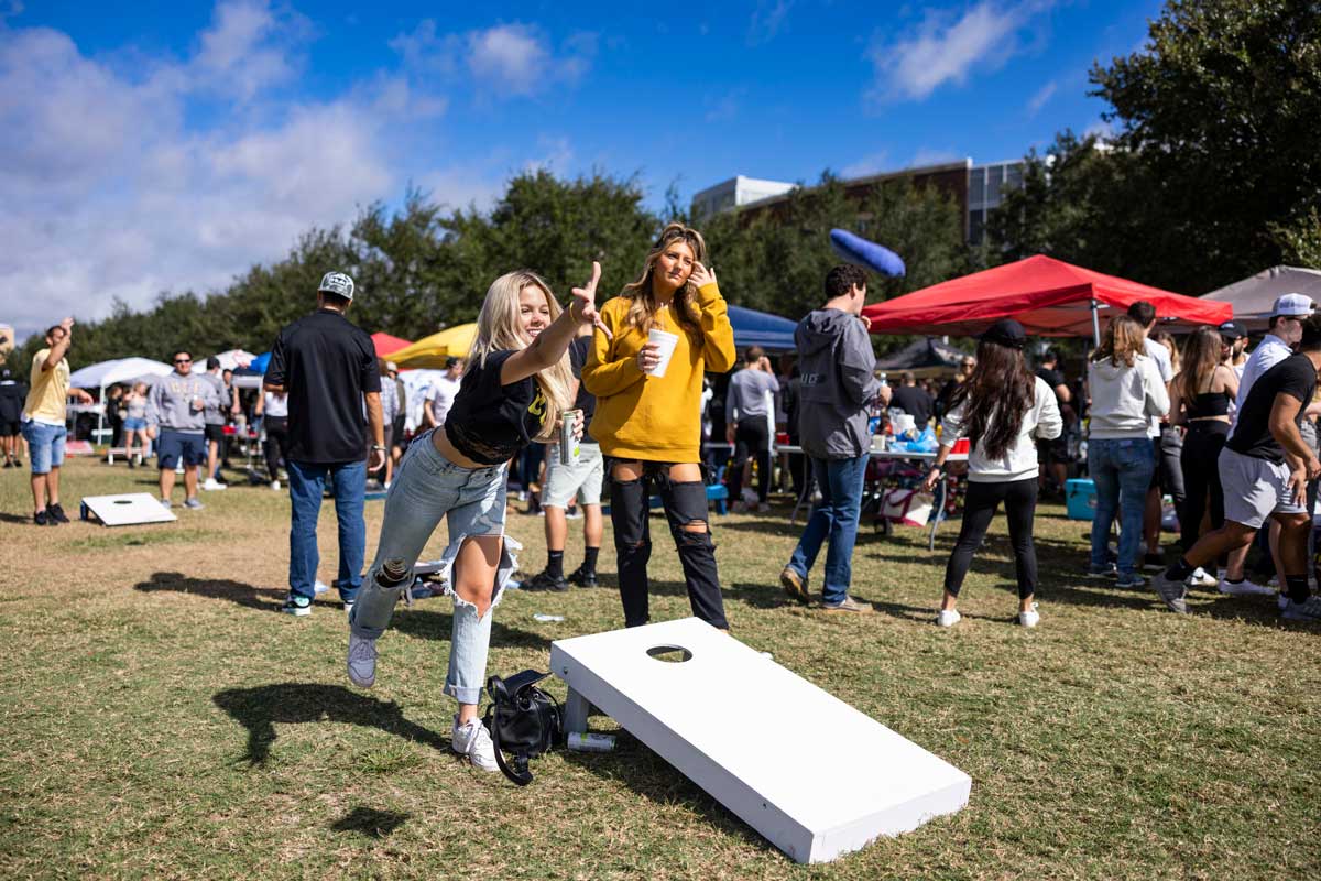
[[[810,602],[807,573],[826,542],[823,608],[867,613],[872,606],[856,602],[848,588],[872,449],[868,407],[873,402],[888,404],[890,390],[873,375],[876,355],[869,322],[861,314],[867,273],[856,265],[835,267],[826,276],[826,305],[808,313],[794,332],[802,378],[798,428],[822,499],[812,507],[779,582],[790,597]]]

